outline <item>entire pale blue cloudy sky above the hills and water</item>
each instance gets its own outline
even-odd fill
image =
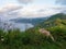
[[[66,11],[66,0],[0,0],[0,16],[45,17]]]

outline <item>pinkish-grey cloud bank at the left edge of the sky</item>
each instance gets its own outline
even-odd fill
[[[16,12],[19,10],[21,10],[22,7],[20,5],[14,5],[14,4],[8,4],[8,5],[4,5],[3,8],[0,8],[0,16],[1,17],[15,17],[16,16]]]

